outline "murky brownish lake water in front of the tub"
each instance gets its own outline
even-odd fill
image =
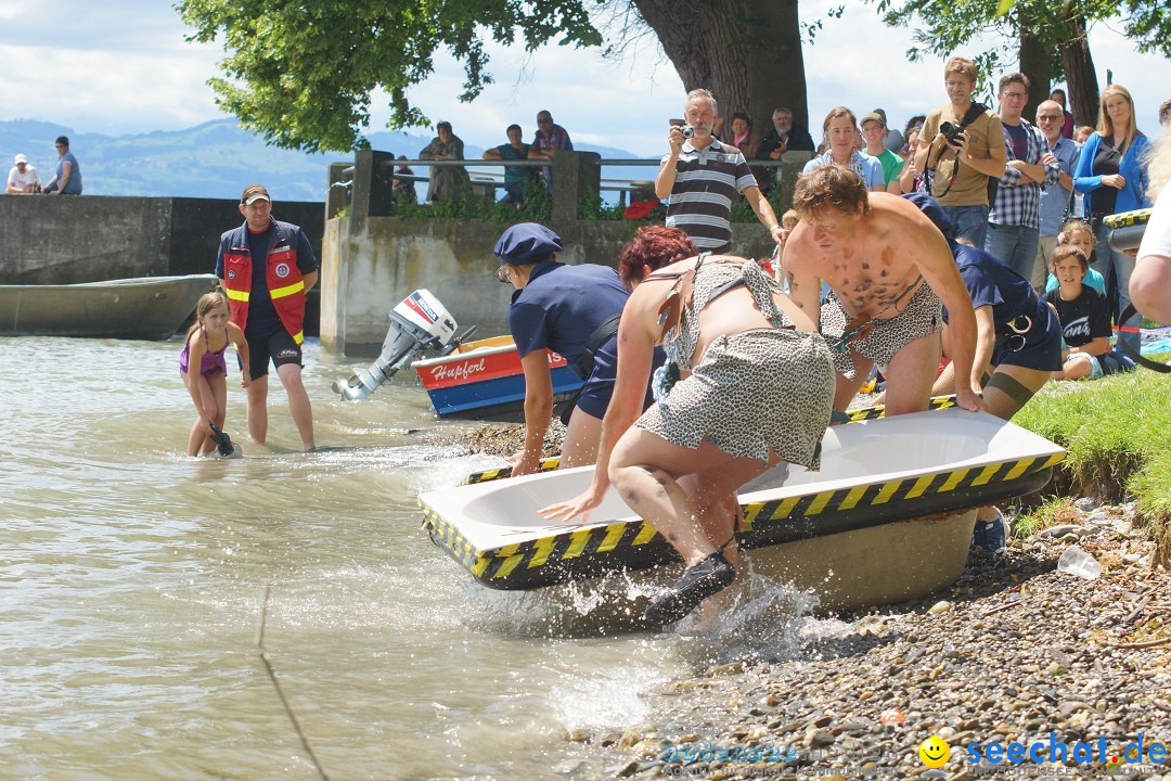
[[[311,341],[321,452],[275,376],[251,443],[233,377],[246,458],[190,459],[180,348],[0,338],[0,777],[315,777],[255,646],[267,583],[265,646],[334,779],[564,777],[575,752],[597,777],[566,731],[653,719],[671,681],[797,633],[567,636],[549,608],[588,591],[489,591],[419,532],[420,491],[497,461],[438,441],[470,424],[411,378],[343,404],[351,362]]]

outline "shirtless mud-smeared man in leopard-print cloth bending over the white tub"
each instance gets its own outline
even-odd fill
[[[940,355],[943,313],[951,314],[957,377],[971,377],[972,299],[938,228],[897,196],[868,193],[858,174],[827,165],[797,180],[801,221],[785,245],[789,296],[821,314],[844,412],[875,363],[886,366],[886,415],[927,409]],[[820,304],[824,280],[831,293]],[[980,410],[980,389],[957,383],[956,400]]]

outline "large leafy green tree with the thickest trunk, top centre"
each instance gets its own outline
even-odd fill
[[[601,47],[590,12],[618,20],[608,52],[650,29],[687,89],[705,87],[721,112],[755,109],[755,124],[789,105],[807,117],[797,0],[180,0],[189,40],[222,40],[217,102],[272,144],[361,146],[371,93],[390,96],[391,128],[427,124],[410,89],[440,49],[464,66],[460,100],[493,81],[485,42]],[[840,12],[838,12],[840,14]],[[778,74],[785,74],[783,78]],[[680,95],[680,107],[683,96]],[[604,108],[604,107],[600,107]]]

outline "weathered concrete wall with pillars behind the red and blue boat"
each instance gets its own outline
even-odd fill
[[[782,159],[782,208],[792,203],[793,183],[809,159],[789,152]],[[569,263],[615,266],[624,241],[637,225],[629,220],[582,220],[578,204],[598,192],[598,157],[562,152],[553,158],[549,227],[566,247]],[[326,222],[322,247],[321,344],[335,354],[377,355],[386,335],[388,313],[411,292],[431,290],[459,323],[478,326],[477,337],[508,333],[512,287],[495,279],[499,261],[492,247],[507,224],[456,220],[408,220],[391,215],[386,152],[359,151],[354,166],[335,165],[329,180],[351,177],[350,213]],[[342,190],[330,187],[330,214],[343,208]],[[781,214],[776,215],[778,218]],[[732,226],[732,253],[767,256],[775,247],[759,222]]]

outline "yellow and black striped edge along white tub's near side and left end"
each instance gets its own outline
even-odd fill
[[[744,506],[741,546],[756,548],[837,534],[897,519],[980,507],[1041,488],[1064,453],[1022,458],[790,496]],[[578,528],[492,550],[472,546],[447,520],[423,507],[423,528],[478,581],[495,589],[533,589],[617,569],[677,560],[662,534],[642,521]]]

